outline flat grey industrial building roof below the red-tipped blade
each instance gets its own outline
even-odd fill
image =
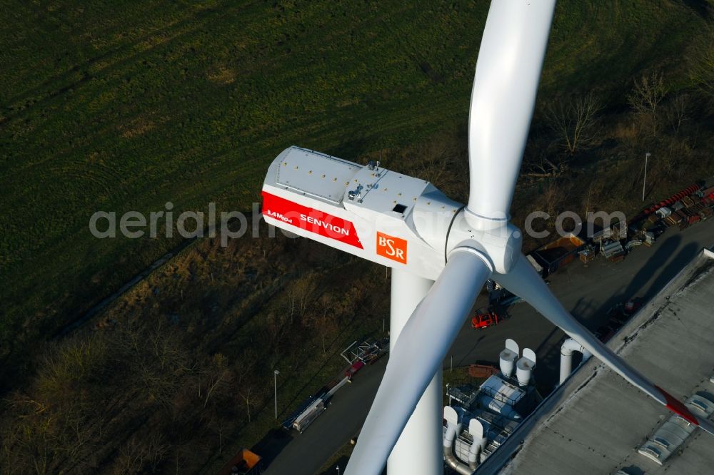
[[[698,395],[697,404],[714,407],[714,253],[700,252],[608,346],[682,402]],[[701,429],[688,435],[670,416],[592,358],[481,468],[533,475],[712,473],[714,436]],[[673,428],[683,441],[675,441]]]

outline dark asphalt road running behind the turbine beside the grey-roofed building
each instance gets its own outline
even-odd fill
[[[702,248],[714,244],[714,220],[685,230],[668,230],[652,247],[640,246],[618,264],[602,257],[585,267],[580,261],[549,277],[550,289],[563,306],[591,330],[602,325],[605,312],[632,297],[653,297]],[[485,306],[480,297],[476,306]],[[476,332],[465,322],[446,359],[444,369],[477,361],[498,361],[506,338],[535,350],[539,387],[553,387],[558,379],[559,352],[563,332],[526,303],[513,305],[510,317],[487,330]],[[353,384],[343,387],[331,406],[303,434],[293,436],[266,471],[267,475],[315,474],[341,446],[356,434],[371,405],[384,372],[385,362],[366,367]],[[341,469],[343,469],[343,464]],[[336,473],[331,469],[330,473]]]

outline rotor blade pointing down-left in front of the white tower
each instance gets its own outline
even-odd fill
[[[404,325],[346,475],[379,475],[416,404],[471,311],[491,269],[476,254],[453,252],[446,267]],[[434,414],[434,417],[439,417]]]

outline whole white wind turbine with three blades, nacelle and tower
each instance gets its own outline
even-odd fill
[[[488,278],[655,401],[714,434],[714,424],[630,367],[560,305],[509,222],[554,9],[555,0],[491,4],[471,94],[468,205],[379,163],[362,166],[297,147],[268,168],[269,224],[392,268],[389,362],[346,475],[380,474],[385,463],[395,473],[441,473],[441,364]]]

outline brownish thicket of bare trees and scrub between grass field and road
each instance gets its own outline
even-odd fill
[[[266,231],[229,247],[204,240],[98,324],[51,344],[2,406],[0,472],[215,468],[275,424],[275,367],[281,413],[328,382],[301,379],[341,368],[345,329],[358,308],[357,326],[368,326],[370,302],[382,305],[368,293],[378,291],[348,279],[362,263]]]

